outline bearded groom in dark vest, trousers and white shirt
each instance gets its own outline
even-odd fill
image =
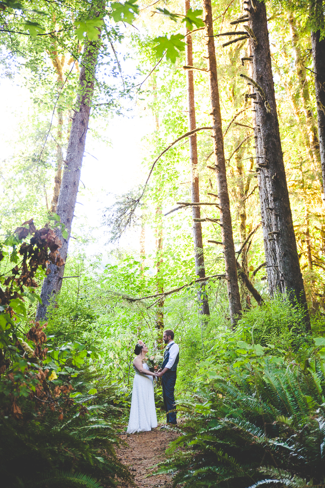
[[[179,347],[174,342],[172,330],[165,330],[163,341],[167,344],[164,353],[164,361],[157,376],[161,378],[163,387],[163,399],[167,412],[167,423],[177,425],[174,388],[176,383],[176,370],[179,361]]]

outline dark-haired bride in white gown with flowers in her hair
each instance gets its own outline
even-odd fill
[[[135,371],[130,419],[127,429],[128,434],[142,432],[157,427],[156,407],[154,405],[153,376],[147,363],[142,361],[148,352],[148,347],[144,342],[139,343],[134,348],[136,357],[133,361]]]

